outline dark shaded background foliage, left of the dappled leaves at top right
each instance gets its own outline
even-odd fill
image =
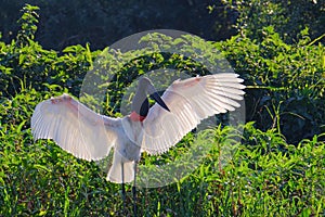
[[[40,10],[37,40],[47,49],[63,50],[72,44],[91,44],[103,49],[132,34],[150,29],[177,29],[206,39],[225,39],[235,33],[236,14],[221,1],[209,13],[211,0],[183,1],[87,1],[36,0]],[[1,0],[0,31],[9,42],[18,30],[15,21],[26,1]]]

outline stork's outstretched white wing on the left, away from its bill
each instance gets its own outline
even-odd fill
[[[31,116],[31,133],[37,139],[53,139],[62,149],[87,161],[108,155],[120,126],[89,110],[64,93],[39,103]]]

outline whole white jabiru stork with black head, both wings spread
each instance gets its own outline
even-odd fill
[[[53,139],[63,150],[87,161],[107,156],[114,146],[106,179],[122,184],[134,181],[134,193],[141,152],[164,153],[203,119],[239,107],[245,93],[242,82],[234,73],[178,79],[160,98],[151,80],[142,77],[132,112],[122,118],[96,114],[64,93],[36,106],[31,132],[35,140]],[[156,101],[152,107],[148,94]]]

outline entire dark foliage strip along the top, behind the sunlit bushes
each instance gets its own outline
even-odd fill
[[[9,42],[20,28],[16,21],[26,1],[0,0],[0,31]],[[297,41],[306,27],[311,38],[325,29],[325,0],[35,0],[40,8],[36,39],[46,49],[63,50],[90,43],[103,49],[132,34],[151,29],[177,29],[207,40],[224,40],[246,29],[262,37],[262,27],[273,25],[286,42]]]

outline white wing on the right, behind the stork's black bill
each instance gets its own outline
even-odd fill
[[[245,88],[237,74],[221,73],[176,80],[161,99],[170,112],[157,103],[143,122],[142,150],[160,154],[177,144],[200,120],[239,107]]]

